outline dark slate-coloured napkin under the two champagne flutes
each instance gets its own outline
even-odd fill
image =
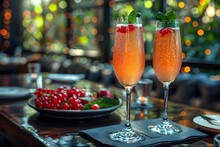
[[[120,146],[120,147],[138,147],[138,146],[170,146],[181,143],[190,143],[207,137],[207,134],[199,132],[198,130],[181,126],[175,122],[171,122],[182,128],[182,132],[174,135],[160,135],[152,133],[147,129],[148,125],[157,124],[161,119],[141,120],[132,122],[134,130],[142,132],[146,135],[146,139],[137,143],[120,143],[112,141],[108,134],[118,131],[124,127],[124,124],[111,125],[106,127],[99,127],[94,129],[82,130],[79,135],[85,139],[94,141],[100,145],[105,146]]]

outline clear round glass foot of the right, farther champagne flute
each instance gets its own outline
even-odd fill
[[[160,124],[148,126],[148,130],[162,135],[173,135],[182,131],[180,127],[171,124],[169,121],[163,121]]]

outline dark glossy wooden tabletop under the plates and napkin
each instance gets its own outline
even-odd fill
[[[26,78],[27,74],[1,75],[0,86],[25,87]],[[52,83],[48,79],[44,79],[44,81],[46,81],[45,87],[63,85],[63,83]],[[100,86],[102,84],[86,80],[77,83],[77,86],[82,85],[87,86],[87,88],[94,88],[94,86]],[[110,87],[110,89],[123,91],[114,87]],[[100,118],[58,119],[44,117],[28,106],[27,100],[29,98],[0,101],[0,131],[15,146],[18,144],[20,146],[98,146],[94,142],[80,137],[78,132],[84,129],[123,123],[125,120],[124,105],[110,115]],[[150,103],[154,105],[152,109],[132,109],[131,120],[160,118],[163,112],[163,100],[151,98]],[[209,110],[169,102],[170,120],[183,126],[198,129],[193,123],[193,118],[196,116],[195,112],[217,114]],[[31,127],[24,128],[24,124]],[[215,134],[203,130],[200,131],[208,134],[208,137],[185,146],[212,146],[213,136]]]

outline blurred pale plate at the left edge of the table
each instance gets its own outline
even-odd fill
[[[28,89],[15,86],[0,87],[0,100],[14,100],[31,95]]]

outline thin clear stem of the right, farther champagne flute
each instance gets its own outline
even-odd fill
[[[168,120],[168,94],[169,94],[169,85],[170,82],[163,83],[164,88],[164,111],[163,111],[163,120]]]

